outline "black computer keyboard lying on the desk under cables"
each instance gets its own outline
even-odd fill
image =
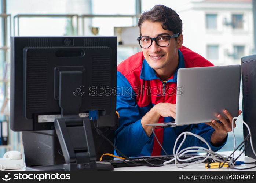
[[[187,158],[190,158],[190,157],[194,157],[195,155],[187,155],[187,156],[182,156],[180,157],[180,159],[187,159]],[[144,160],[143,160],[144,158]],[[127,159],[124,159],[124,160],[105,160],[109,163],[111,163],[111,165],[114,167],[114,168],[118,168],[118,167],[134,167],[134,166],[143,166],[143,165],[149,165],[149,163],[151,164],[154,164],[154,165],[161,165],[164,163],[164,161],[168,161],[170,160],[170,158],[173,158],[173,155],[170,155],[169,157],[168,156],[152,156],[152,157],[134,157],[134,158],[131,158],[131,160],[127,160]],[[146,161],[148,161],[149,163],[147,163]],[[135,163],[138,163],[138,164],[134,164],[132,162],[135,162]]]

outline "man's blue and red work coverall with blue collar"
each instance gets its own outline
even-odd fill
[[[116,107],[120,115],[120,124],[115,133],[115,145],[117,148],[130,157],[163,155],[164,152],[154,138],[153,133],[150,137],[147,136],[142,127],[141,119],[154,105],[160,102],[176,104],[175,89],[179,68],[206,66],[213,66],[213,64],[204,57],[182,46],[179,49],[178,68],[164,84],[154,69],[149,66],[142,52],[136,53],[120,63],[117,66],[118,87]],[[151,90],[151,93],[148,94],[149,88],[155,89]],[[142,91],[145,92],[143,93]],[[184,113],[184,115],[186,114]],[[175,121],[175,119],[172,117],[160,117],[158,123],[170,121]],[[190,131],[203,137],[211,145],[213,151],[221,149],[227,141],[226,137],[222,145],[214,146],[211,143],[211,135],[214,129],[205,123],[160,128],[154,131],[168,154],[173,154],[176,138],[184,131]],[[178,145],[182,139],[180,139]],[[191,135],[187,137],[182,149],[190,146],[207,148],[204,142]]]

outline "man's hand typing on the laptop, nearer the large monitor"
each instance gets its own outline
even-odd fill
[[[152,134],[151,128],[155,126],[147,126],[145,124],[153,124],[157,123],[159,117],[173,117],[176,118],[176,104],[170,103],[158,103],[154,105],[149,112],[145,114],[145,116],[141,119],[142,127],[144,128],[147,136]]]

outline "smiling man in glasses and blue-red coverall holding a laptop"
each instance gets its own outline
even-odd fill
[[[146,124],[175,120],[179,68],[213,64],[182,46],[182,20],[171,8],[154,6],[141,15],[138,26],[142,52],[129,57],[117,67],[117,112],[120,124],[115,144],[126,156],[161,155],[164,153],[152,134],[152,127]],[[150,92],[146,91],[149,89]],[[206,124],[155,129],[154,132],[168,154],[173,153],[176,138],[184,131],[201,135],[212,150],[217,151],[224,146],[227,134],[232,130],[233,117],[227,110],[224,113],[229,120],[218,115],[220,122],[212,120]],[[183,148],[190,146],[206,147],[194,137],[187,138]]]

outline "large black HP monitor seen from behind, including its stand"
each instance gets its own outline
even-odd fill
[[[65,169],[95,169],[86,115],[96,110],[97,127],[117,126],[116,37],[12,37],[11,46],[11,129],[55,129]]]

